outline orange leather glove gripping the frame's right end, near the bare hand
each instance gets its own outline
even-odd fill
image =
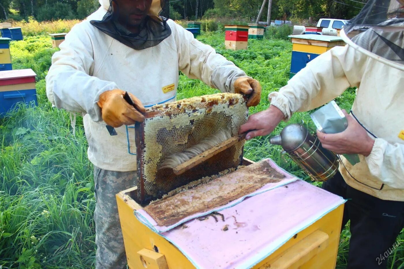
[[[234,82],[234,92],[249,95],[247,106],[255,107],[261,101],[261,85],[253,78],[238,78]]]

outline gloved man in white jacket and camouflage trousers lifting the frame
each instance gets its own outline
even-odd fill
[[[75,25],[46,76],[48,99],[84,114],[88,158],[94,164],[96,267],[124,268],[126,256],[115,194],[136,185],[136,157],[126,128],[143,121],[144,107],[174,101],[178,72],[222,92],[261,99],[261,86],[174,21],[164,0],[100,0],[101,7]],[[124,99],[130,93],[136,109]],[[111,136],[106,125],[116,128]],[[134,135],[129,142],[135,145]]]

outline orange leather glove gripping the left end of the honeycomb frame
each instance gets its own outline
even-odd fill
[[[101,93],[97,102],[98,106],[101,107],[102,119],[112,127],[120,127],[123,124],[131,125],[145,120],[145,117],[141,114],[145,112],[145,107],[143,107],[141,101],[129,93],[135,108],[125,101],[124,95],[125,91],[123,90],[107,90]]]

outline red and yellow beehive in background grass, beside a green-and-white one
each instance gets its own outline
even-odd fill
[[[248,26],[225,25],[225,46],[231,50],[246,50],[248,45]]]

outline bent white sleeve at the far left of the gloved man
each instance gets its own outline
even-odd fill
[[[93,44],[83,26],[82,23],[74,26],[59,46],[60,51],[53,55],[46,76],[46,95],[57,108],[88,113],[92,120],[100,121],[99,95],[118,87],[114,82],[92,76]]]

